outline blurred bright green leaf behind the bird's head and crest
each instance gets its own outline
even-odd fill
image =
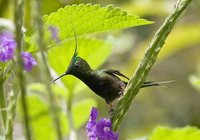
[[[78,54],[85,59],[92,68],[100,66],[111,54],[111,44],[103,40],[92,38],[78,38]],[[58,47],[54,47],[48,51],[48,61],[50,66],[58,75],[63,74],[73,56],[75,49],[74,40],[70,40]],[[71,91],[80,81],[75,80],[72,76],[61,78],[65,86]]]

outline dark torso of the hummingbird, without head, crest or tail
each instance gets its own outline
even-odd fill
[[[112,74],[114,70],[90,70],[72,75],[83,81],[94,93],[105,99],[107,104],[120,97],[126,84]]]

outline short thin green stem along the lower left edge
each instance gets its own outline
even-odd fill
[[[7,119],[7,114],[6,114],[6,94],[4,92],[4,76],[3,76],[3,71],[0,68],[0,114],[2,116],[2,121],[3,121],[3,128],[6,128],[6,119]]]

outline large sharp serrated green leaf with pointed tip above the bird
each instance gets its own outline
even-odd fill
[[[80,35],[153,23],[136,15],[128,15],[113,5],[100,7],[98,4],[68,5],[44,16],[44,22],[46,27],[49,25],[58,27],[61,39],[73,37],[72,28],[75,28],[76,34]]]

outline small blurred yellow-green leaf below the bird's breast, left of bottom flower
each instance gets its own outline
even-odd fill
[[[90,111],[92,107],[97,105],[94,99],[84,99],[82,101],[77,102],[73,106],[73,119],[74,126],[76,129],[80,128],[83,124],[88,121],[90,116]]]

